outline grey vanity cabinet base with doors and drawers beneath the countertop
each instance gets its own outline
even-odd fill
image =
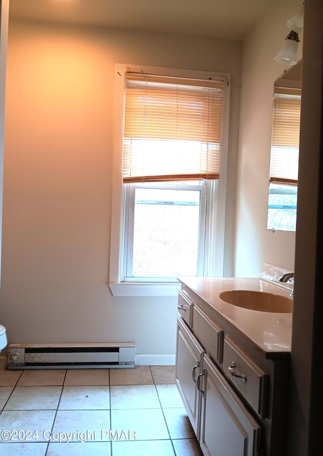
[[[282,456],[288,362],[241,336],[182,285],[176,384],[204,456]]]

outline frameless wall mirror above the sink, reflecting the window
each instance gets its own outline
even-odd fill
[[[295,231],[302,61],[274,83],[267,229]]]

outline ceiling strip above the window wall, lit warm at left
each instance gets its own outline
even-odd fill
[[[10,0],[10,17],[242,40],[274,0]]]

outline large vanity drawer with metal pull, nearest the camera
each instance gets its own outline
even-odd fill
[[[228,336],[224,339],[223,369],[254,411],[265,418],[268,374]]]

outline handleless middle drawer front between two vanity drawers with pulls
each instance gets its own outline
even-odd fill
[[[224,333],[204,312],[196,305],[193,307],[193,333],[204,348],[207,355],[218,363],[223,361]]]

